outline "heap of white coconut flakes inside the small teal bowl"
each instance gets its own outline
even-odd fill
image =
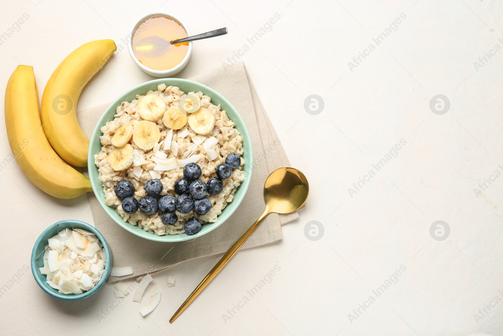
[[[65,229],[47,240],[40,273],[63,294],[82,294],[100,281],[105,269],[103,245],[92,232]]]

